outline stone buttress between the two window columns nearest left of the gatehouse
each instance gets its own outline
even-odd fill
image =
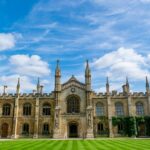
[[[38,138],[39,133],[39,97],[36,97],[36,105],[35,105],[35,121],[34,121],[34,136],[33,138]]]

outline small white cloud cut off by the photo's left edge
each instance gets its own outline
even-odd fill
[[[12,33],[0,33],[0,51],[13,48],[15,42],[15,36]]]

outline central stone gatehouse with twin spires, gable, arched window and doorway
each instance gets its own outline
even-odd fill
[[[55,70],[54,138],[93,138],[93,107],[91,97],[91,70],[88,61],[85,83],[74,76],[61,84],[59,61]]]

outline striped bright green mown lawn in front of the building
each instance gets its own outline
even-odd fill
[[[5,140],[0,150],[150,150],[150,139]]]

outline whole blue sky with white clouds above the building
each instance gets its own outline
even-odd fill
[[[74,74],[84,82],[85,60],[92,88],[145,91],[150,78],[150,0],[1,0],[0,91],[32,92],[37,77],[44,92],[54,88],[56,60],[62,82]]]

